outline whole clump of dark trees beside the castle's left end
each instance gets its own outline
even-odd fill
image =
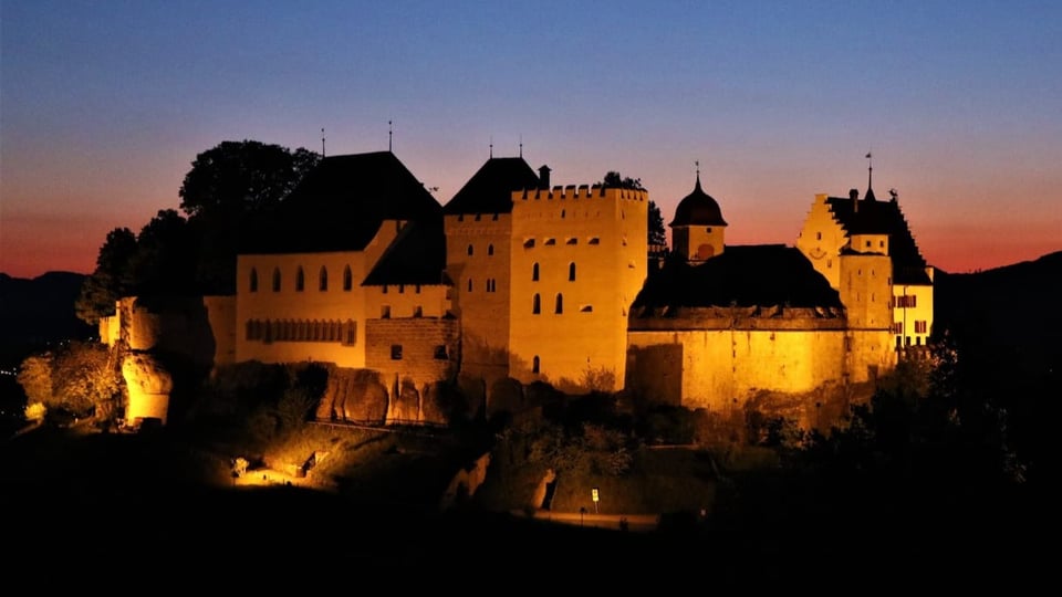
[[[240,229],[275,208],[320,156],[256,140],[221,142],[196,156],[176,209],[162,209],[134,235],[113,230],[82,286],[77,316],[95,325],[122,296],[230,294]]]

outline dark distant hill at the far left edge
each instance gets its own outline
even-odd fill
[[[0,356],[4,365],[51,343],[95,335],[74,313],[85,277],[48,272],[31,280],[0,273]]]

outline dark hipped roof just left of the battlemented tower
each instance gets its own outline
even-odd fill
[[[510,213],[512,191],[538,187],[539,176],[522,157],[490,158],[442,207],[442,212]]]

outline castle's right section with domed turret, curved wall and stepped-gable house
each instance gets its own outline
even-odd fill
[[[637,395],[710,411],[788,400],[816,423],[819,407],[841,415],[853,386],[931,329],[933,270],[895,195],[820,195],[795,247],[728,247],[698,175],[670,227],[674,258],[632,306],[626,386]]]

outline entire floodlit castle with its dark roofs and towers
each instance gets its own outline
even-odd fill
[[[445,206],[391,151],[323,158],[207,306],[212,362],[372,371],[381,387],[330,400],[442,422],[445,380],[488,408],[540,381],[720,411],[873,381],[929,334],[931,270],[895,196],[819,196],[795,247],[731,247],[698,172],[652,269],[647,212],[645,190],[553,186],[522,157]],[[317,416],[366,418],[333,402]]]

